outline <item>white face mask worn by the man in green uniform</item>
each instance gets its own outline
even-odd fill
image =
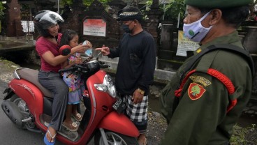
[[[184,24],[183,26],[183,31],[184,31],[184,36],[189,38],[190,40],[193,40],[196,43],[200,43],[203,38],[205,38],[206,34],[210,31],[212,26],[209,28],[203,27],[201,22],[209,15],[210,12],[205,14],[200,20],[193,22],[191,24]]]

